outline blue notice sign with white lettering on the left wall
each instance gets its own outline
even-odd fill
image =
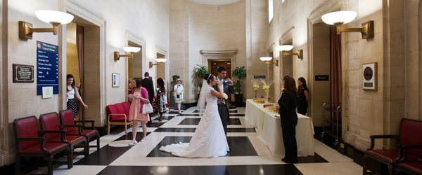
[[[49,86],[58,94],[58,45],[37,41],[37,95]]]

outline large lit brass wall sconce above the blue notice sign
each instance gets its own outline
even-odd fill
[[[39,20],[53,25],[53,28],[32,28],[31,23],[19,21],[19,38],[32,39],[34,32],[53,32],[56,35],[58,25],[65,25],[73,20],[73,15],[54,10],[37,10],[35,15]]]

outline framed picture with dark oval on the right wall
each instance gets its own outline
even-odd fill
[[[377,90],[378,64],[376,62],[363,64],[362,67],[362,88],[364,90]]]

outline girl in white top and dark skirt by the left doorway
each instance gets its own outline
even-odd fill
[[[68,109],[72,109],[73,111],[73,117],[77,117],[77,105],[75,102],[75,97],[79,100],[79,102],[88,109],[88,106],[84,104],[84,101],[82,101],[81,96],[79,95],[79,92],[77,91],[77,87],[75,85],[74,78],[72,74],[68,74],[66,76],[66,79],[68,80],[68,85],[66,86],[67,91],[67,102],[68,102]]]

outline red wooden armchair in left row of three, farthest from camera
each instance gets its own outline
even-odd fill
[[[100,134],[98,133],[98,130],[94,127],[94,120],[77,120],[75,121],[75,118],[73,117],[73,111],[72,109],[66,109],[63,111],[60,111],[60,123],[62,125],[75,125],[75,123],[91,123],[91,128],[89,130],[83,130],[82,134],[87,137],[87,141],[92,137],[96,138],[97,145],[96,146],[88,146],[88,147],[96,147],[97,151],[100,150]],[[82,125],[84,127],[84,125]],[[64,130],[66,131],[66,135],[68,136],[79,136],[79,131],[75,130],[75,127],[65,127]]]

